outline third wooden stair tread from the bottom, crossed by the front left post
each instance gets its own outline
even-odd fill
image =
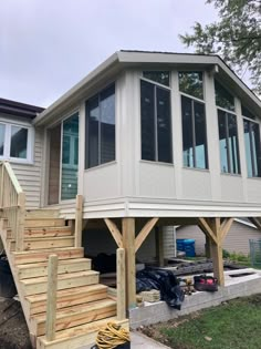
[[[58,290],[58,299],[60,297],[71,296],[72,294],[75,296],[75,295],[82,295],[82,294],[87,294],[87,292],[103,291],[106,289],[107,289],[107,286],[102,285],[102,284],[60,289],[60,290]],[[46,294],[39,294],[39,295],[25,296],[25,299],[28,301],[30,301],[31,304],[34,304],[38,301],[46,300],[48,295]]]

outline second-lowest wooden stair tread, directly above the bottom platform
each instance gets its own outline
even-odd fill
[[[64,309],[60,309],[56,311],[56,320],[63,319],[71,316],[76,316],[80,314],[84,314],[86,311],[95,311],[97,309],[103,309],[105,307],[116,307],[117,302],[115,300],[112,300],[109,298],[92,301],[91,304],[86,305],[77,305],[73,307],[67,307]],[[39,314],[33,316],[33,320],[36,321],[36,324],[45,322],[46,321],[46,314]]]

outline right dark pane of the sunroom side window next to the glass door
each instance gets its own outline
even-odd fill
[[[115,160],[115,88],[101,93],[101,164]]]

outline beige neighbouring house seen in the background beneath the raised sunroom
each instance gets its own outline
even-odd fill
[[[196,255],[205,255],[206,236],[198,226],[179,226],[176,228],[176,234],[177,239],[195,239]],[[249,255],[250,239],[261,239],[261,232],[257,229],[257,227],[252,223],[236,218],[231,228],[229,229],[228,235],[223,240],[223,249],[229,253]]]

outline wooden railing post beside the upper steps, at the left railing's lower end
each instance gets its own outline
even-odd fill
[[[18,215],[15,229],[15,250],[23,250],[24,236],[24,220],[25,220],[25,194],[22,192],[18,194]]]

